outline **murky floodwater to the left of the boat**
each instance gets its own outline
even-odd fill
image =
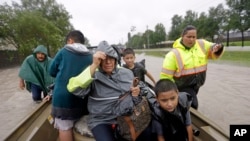
[[[19,89],[18,69],[0,69],[1,141],[37,106],[30,93]]]

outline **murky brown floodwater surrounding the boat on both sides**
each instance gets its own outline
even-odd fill
[[[147,70],[158,80],[163,58],[137,56],[137,60],[144,58]],[[30,93],[19,89],[18,69],[0,69],[0,140],[38,106]],[[229,134],[230,124],[250,124],[249,91],[249,67],[210,63],[206,83],[198,94],[198,110]]]

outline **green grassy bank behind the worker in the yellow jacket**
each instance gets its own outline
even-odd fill
[[[145,53],[146,55],[164,58],[167,51],[163,50],[137,50],[136,53]],[[211,60],[212,63],[232,64],[237,66],[250,67],[250,51],[225,51],[219,60]]]

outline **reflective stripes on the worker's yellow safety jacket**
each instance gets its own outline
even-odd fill
[[[203,40],[197,40],[197,41],[198,41],[199,47],[201,48],[202,52],[206,55],[206,49],[205,49]],[[205,64],[203,66],[195,67],[195,68],[185,69],[179,50],[172,49],[172,52],[175,54],[175,58],[176,58],[176,62],[177,62],[177,66],[179,68],[179,71],[162,69],[163,73],[171,74],[171,75],[174,75],[175,77],[180,77],[183,75],[196,74],[196,73],[203,72],[203,71],[207,70],[207,64]]]

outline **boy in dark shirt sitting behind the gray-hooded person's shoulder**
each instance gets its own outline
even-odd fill
[[[132,48],[126,48],[123,51],[123,61],[125,64],[123,64],[123,67],[130,69],[135,77],[138,77],[140,81],[145,82],[145,75],[153,82],[155,85],[155,80],[151,73],[149,73],[143,64],[139,62],[135,62],[135,52]]]

